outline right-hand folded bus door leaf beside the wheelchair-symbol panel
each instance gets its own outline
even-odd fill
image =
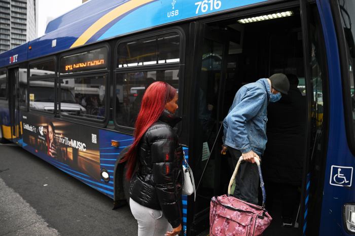
[[[317,6],[300,0],[300,10],[308,116],[299,222],[302,235],[318,235],[327,154],[328,73]]]

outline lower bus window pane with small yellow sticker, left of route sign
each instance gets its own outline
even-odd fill
[[[29,108],[54,112],[55,79],[34,79],[29,81]]]

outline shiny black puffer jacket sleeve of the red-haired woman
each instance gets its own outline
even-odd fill
[[[173,228],[181,224],[180,204],[175,195],[174,179],[176,169],[180,168],[176,167],[174,162],[176,143],[176,134],[171,130],[166,137],[155,140],[151,144],[155,189],[163,214]]]

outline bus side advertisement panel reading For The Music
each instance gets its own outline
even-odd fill
[[[24,112],[23,148],[96,190],[114,197],[100,171],[99,130]],[[105,156],[105,155],[103,155]]]

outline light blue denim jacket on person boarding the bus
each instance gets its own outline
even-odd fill
[[[267,137],[267,105],[271,95],[266,78],[242,86],[235,94],[233,104],[223,121],[223,143],[242,153],[253,150],[263,154]]]

